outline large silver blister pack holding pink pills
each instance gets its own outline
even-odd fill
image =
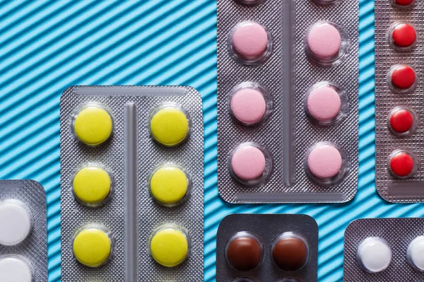
[[[218,189],[345,202],[358,182],[358,1],[218,0]]]

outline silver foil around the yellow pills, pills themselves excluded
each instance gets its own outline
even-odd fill
[[[158,95],[122,95],[122,89]],[[90,95],[90,89],[93,95]],[[179,95],[183,91],[184,95]],[[84,95],[78,95],[83,92]],[[88,94],[87,94],[88,93]],[[95,93],[95,94],[94,94]],[[86,102],[99,102],[107,107],[114,120],[114,133],[108,143],[88,147],[78,143],[71,132],[71,113]],[[61,96],[61,240],[62,279],[64,281],[125,281],[126,274],[126,207],[125,159],[126,118],[128,102],[136,107],[136,198],[138,237],[137,281],[200,281],[203,279],[203,117],[199,93],[190,87],[172,86],[76,86],[65,90]],[[189,139],[174,148],[164,148],[155,143],[148,133],[148,117],[158,105],[176,102],[190,114],[192,129]],[[125,115],[127,115],[125,117]],[[112,161],[113,160],[113,161]],[[100,208],[79,204],[71,193],[71,177],[83,163],[101,163],[114,176],[114,194]],[[175,208],[155,203],[148,193],[148,177],[155,166],[173,162],[182,165],[192,176],[192,191],[187,202]],[[114,236],[114,254],[110,262],[97,269],[88,269],[73,258],[71,238],[86,223],[100,223]],[[167,269],[159,266],[148,254],[148,237],[163,223],[177,223],[187,228],[192,242],[192,252],[187,262]]]

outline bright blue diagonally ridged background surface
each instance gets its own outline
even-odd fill
[[[374,6],[360,0],[360,182],[348,204],[230,205],[216,187],[215,0],[0,0],[0,177],[47,190],[49,281],[59,281],[59,97],[72,85],[189,85],[204,98],[205,281],[228,213],[307,213],[319,224],[319,281],[343,279],[343,232],[364,217],[424,216],[375,190]]]

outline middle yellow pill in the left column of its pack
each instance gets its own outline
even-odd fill
[[[76,172],[72,186],[77,199],[88,206],[98,206],[110,195],[112,181],[102,168],[88,166]]]

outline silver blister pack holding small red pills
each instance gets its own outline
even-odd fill
[[[375,143],[378,193],[423,202],[424,4],[375,1]]]

